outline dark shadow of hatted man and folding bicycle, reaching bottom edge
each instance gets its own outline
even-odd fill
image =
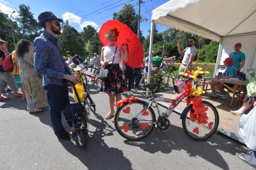
[[[105,144],[104,136],[111,136],[115,129],[101,115],[95,114],[97,120],[90,120],[90,126],[96,128],[89,132],[87,148],[80,150],[70,141],[60,141],[63,147],[77,157],[88,169],[132,169],[131,162],[123,151]]]

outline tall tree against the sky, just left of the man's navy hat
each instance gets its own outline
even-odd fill
[[[34,14],[31,13],[30,7],[25,4],[19,5],[18,13],[17,22],[21,28],[22,38],[29,38],[33,41],[39,35],[39,26],[37,20],[34,19]]]

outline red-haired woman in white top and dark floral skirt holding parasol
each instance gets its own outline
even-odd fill
[[[109,29],[105,38],[108,41],[108,46],[104,46],[101,49],[101,65],[105,69],[108,69],[108,79],[102,80],[101,91],[105,92],[109,96],[110,111],[105,116],[105,119],[111,119],[114,122],[114,101],[122,100],[121,94],[123,91],[127,91],[127,84],[125,76],[119,66],[121,61],[128,60],[128,49],[126,43],[123,44],[125,51],[122,47],[116,46],[117,37],[119,32],[117,29]]]

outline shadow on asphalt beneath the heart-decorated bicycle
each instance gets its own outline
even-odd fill
[[[154,130],[154,132],[142,141],[125,140],[124,142],[151,154],[159,151],[169,154],[173,150],[185,150],[190,157],[202,157],[202,159],[213,163],[221,169],[229,169],[229,166],[220,155],[219,150],[233,155],[246,153],[246,150],[239,143],[230,142],[230,139],[225,138],[223,135],[215,134],[207,141],[199,142],[193,141],[186,136],[182,128],[173,125],[170,125],[166,131]]]

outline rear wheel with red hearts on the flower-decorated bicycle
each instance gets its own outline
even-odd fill
[[[114,117],[114,126],[123,138],[131,141],[139,141],[146,138],[155,127],[155,113],[148,103],[137,100],[126,103],[118,108]]]

